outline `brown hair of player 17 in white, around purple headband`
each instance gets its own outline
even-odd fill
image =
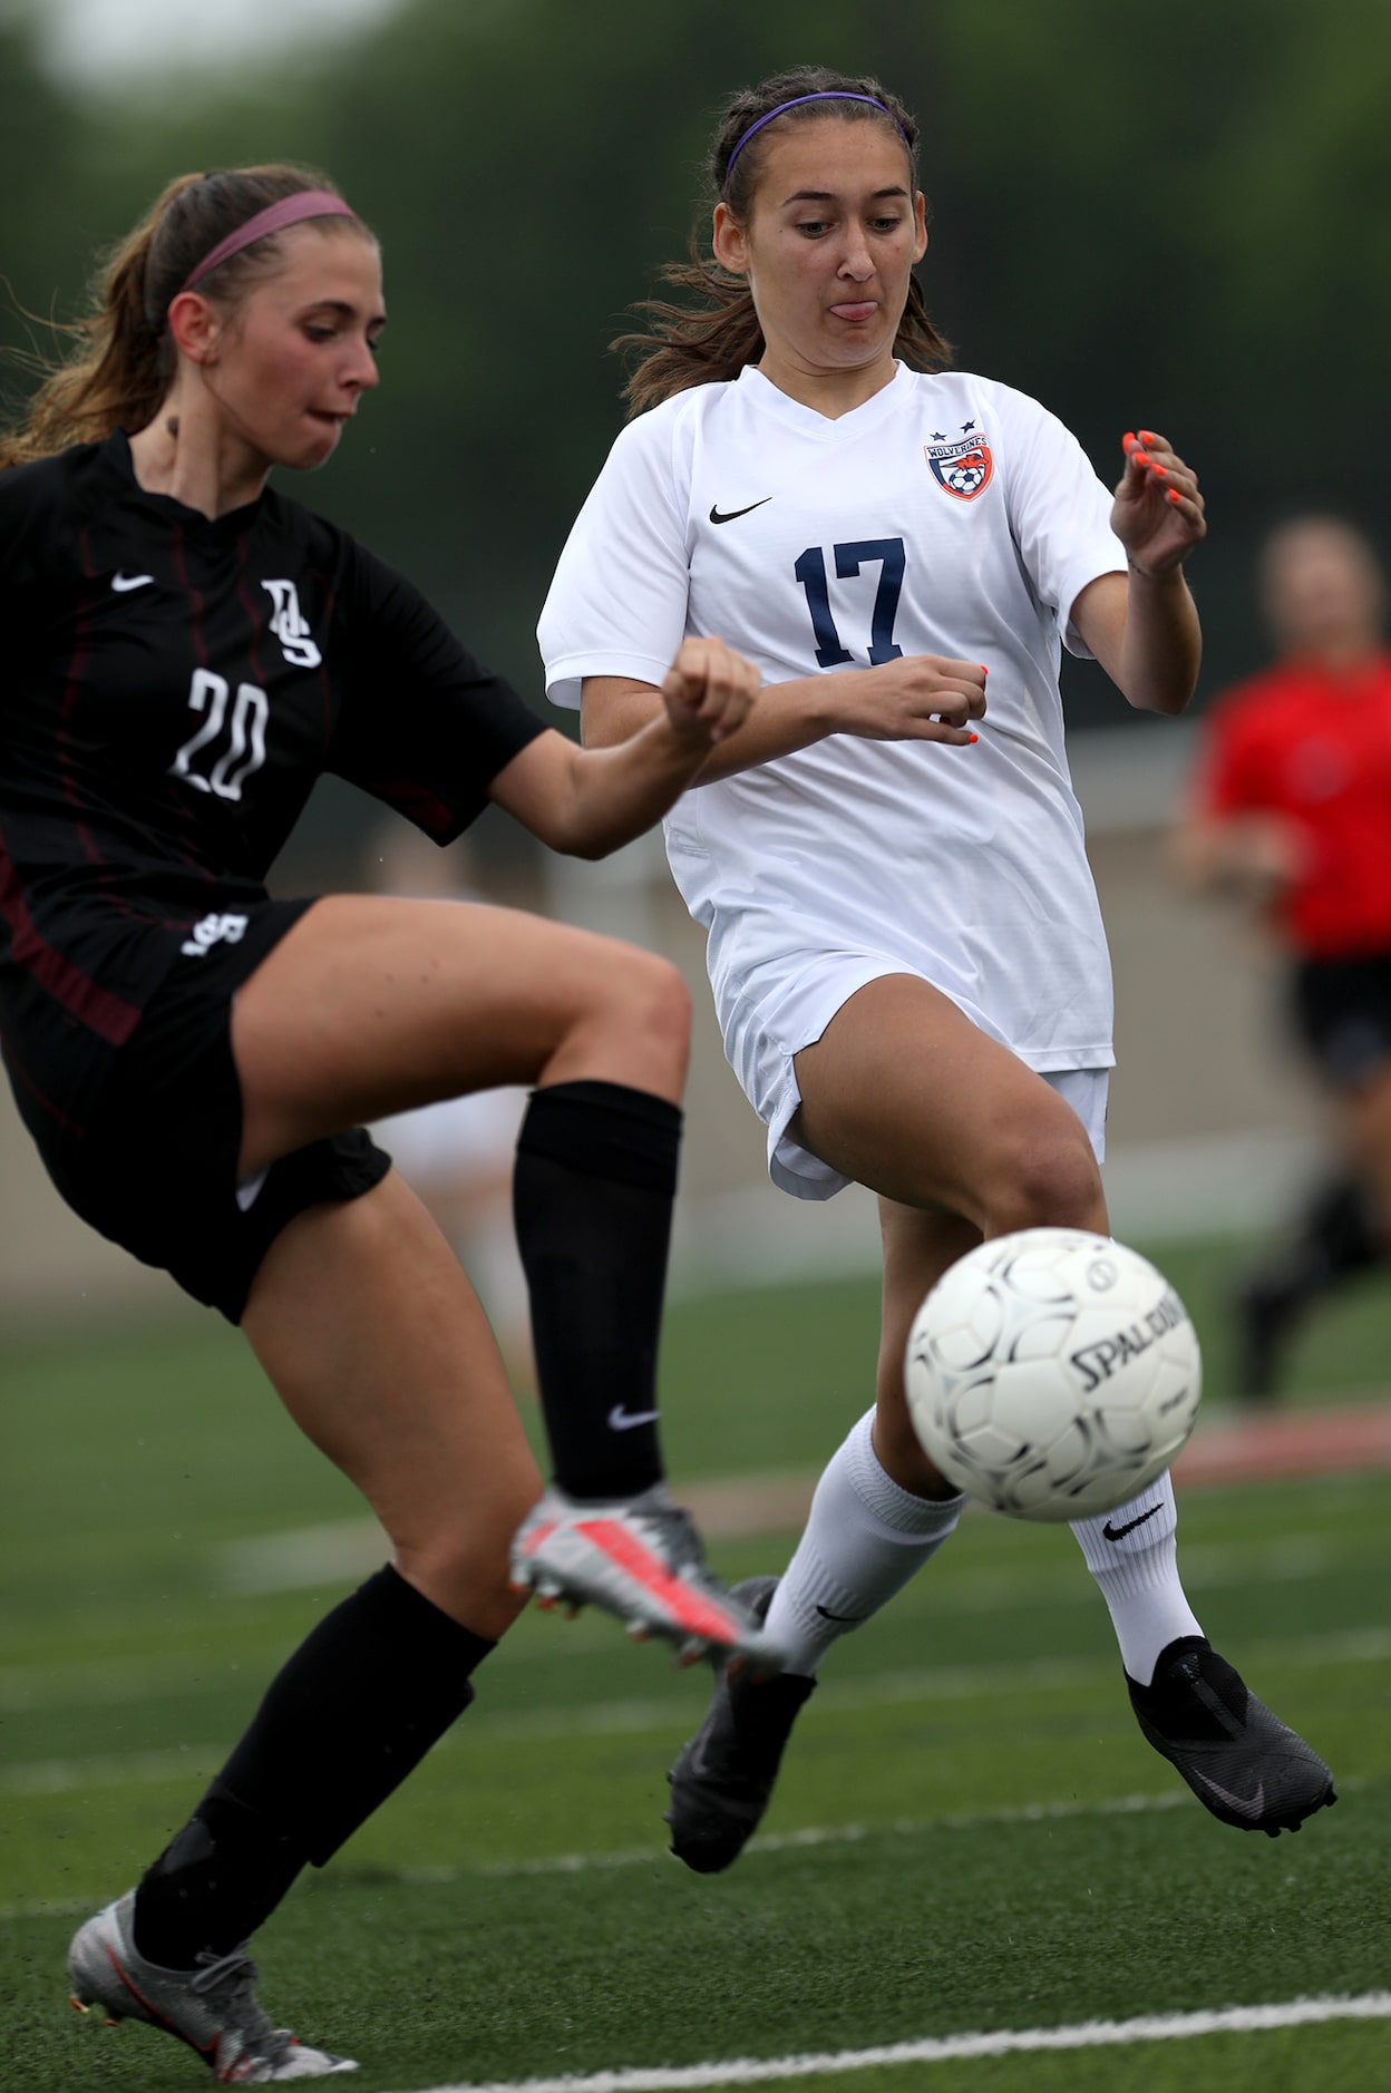
[[[837,100],[786,109],[747,142],[730,170],[734,147],[749,126],[799,94],[862,94],[883,107],[872,109],[868,100]],[[740,224],[747,224],[763,170],[766,142],[782,136],[784,126],[826,115],[841,117],[845,123],[879,123],[902,136],[916,188],[918,126],[908,109],[868,75],[833,73],[824,65],[795,65],[761,80],[757,88],[740,88],[730,103],[707,161],[713,197],[724,201]],[[680,291],[694,291],[703,303],[676,306],[663,297],[646,297],[634,306],[634,312],[646,318],[646,331],[619,335],[609,343],[611,350],[632,358],[632,373],[623,387],[630,414],[640,414],[642,408],[657,406],[690,385],[734,379],[745,364],[755,364],[763,354],[763,329],[753,310],[749,285],[743,276],[720,268],[713,255],[705,255],[694,234],[690,262],[667,264],[661,280]],[[927,316],[922,285],[916,276],[908,278],[908,303],[893,337],[893,352],[927,370],[939,370],[952,360],[952,350]]]

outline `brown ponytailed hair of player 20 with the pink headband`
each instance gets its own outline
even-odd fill
[[[0,433],[0,469],[50,458],[69,444],[102,442],[113,429],[144,429],[174,381],[176,350],[167,329],[169,301],[203,255],[282,197],[333,182],[312,167],[228,167],[180,174],[155,199],[140,224],[105,260],[92,283],[86,318],[54,331],[69,337],[56,362],[27,358],[42,383],[23,419]],[[351,218],[322,220],[326,228]],[[368,234],[370,237],[370,234]],[[234,303],[280,257],[274,232],[251,241],[199,280],[203,297]]]

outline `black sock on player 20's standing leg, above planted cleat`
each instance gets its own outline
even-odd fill
[[[136,1890],[136,1946],[165,1970],[226,1955],[322,1867],[473,1700],[494,1645],[379,1570],[272,1679],[192,1819]]]

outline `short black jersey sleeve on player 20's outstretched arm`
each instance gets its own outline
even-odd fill
[[[460,647],[420,590],[351,546],[333,620],[343,703],[326,768],[450,843],[546,722]]]

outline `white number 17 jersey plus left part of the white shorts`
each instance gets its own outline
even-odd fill
[[[686,634],[766,682],[895,655],[983,661],[975,747],[833,735],[688,791],[671,871],[709,931],[728,1057],[778,1183],[843,1183],[786,1143],[791,1057],[883,973],[918,973],[1042,1072],[1109,1067],[1111,967],[1063,753],[1061,640],[1125,567],[1111,494],[1037,402],[897,366],[828,421],[759,370],[619,435],[546,599],[546,687],[659,684]]]

